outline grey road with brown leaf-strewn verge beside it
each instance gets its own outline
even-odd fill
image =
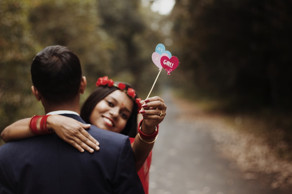
[[[171,93],[163,98],[167,116],[153,149],[151,194],[291,193],[292,165],[274,157],[265,140]]]

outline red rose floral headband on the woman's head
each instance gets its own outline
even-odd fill
[[[108,76],[100,77],[96,81],[96,86],[106,86],[106,85],[107,85],[107,87],[113,87],[113,86],[117,87],[120,90],[122,90],[123,92],[125,92],[128,95],[128,97],[133,99],[135,101],[135,103],[138,105],[138,113],[139,113],[139,111],[142,108],[142,105],[139,102],[141,100],[141,98],[135,98],[136,93],[135,93],[135,90],[133,88],[128,88],[128,90],[125,90],[126,85],[124,83],[116,84],[116,83],[114,83],[114,81],[112,79],[109,79]]]

